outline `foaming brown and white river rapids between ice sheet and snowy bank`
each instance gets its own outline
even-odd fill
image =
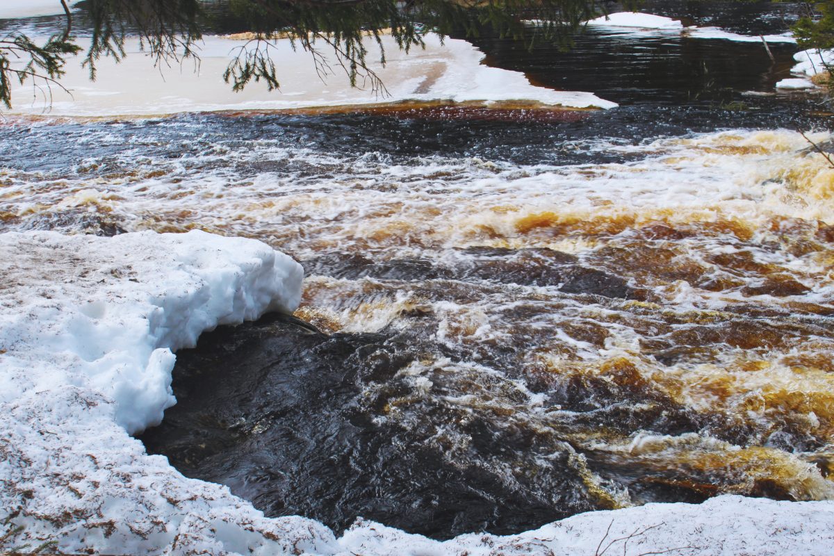
[[[834,497],[834,170],[794,131],[826,115],[743,94],[786,77],[761,45],[701,39],[703,67],[736,63],[695,98],[701,76],[659,69],[697,66],[695,39],[600,33],[604,84],[577,78],[599,83],[603,47],[526,69],[608,112],[10,119],[0,229],[203,228],[304,264],[295,318],[179,353],[178,405],[143,435],[270,515],[447,537]]]

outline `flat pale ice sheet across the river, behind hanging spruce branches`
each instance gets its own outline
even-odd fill
[[[371,39],[369,39],[371,40]],[[336,72],[326,80],[319,78],[309,53],[295,51],[288,39],[275,41],[269,53],[278,62],[279,92],[269,92],[264,83],[251,83],[241,93],[234,93],[222,75],[236,48],[244,40],[207,37],[200,49],[198,71],[186,62],[182,68],[153,68],[153,62],[139,52],[138,41],[128,41],[128,57],[122,63],[102,60],[98,77],[91,83],[86,69],[78,63],[67,64],[61,79],[71,94],[53,88],[53,115],[153,115],[178,112],[218,110],[282,110],[356,106],[402,101],[511,102],[532,101],[552,107],[613,108],[615,103],[591,93],[554,91],[535,87],[523,73],[490,68],[485,58],[470,43],[436,35],[425,38],[426,48],[399,50],[394,38],[382,38],[387,63],[379,63],[374,44],[368,44],[369,65],[387,88],[389,95],[375,94],[368,89],[351,88],[344,73]],[[330,55],[325,45],[322,52]],[[330,59],[333,68],[338,63]],[[340,71],[340,70],[339,70]],[[361,80],[360,80],[360,85]],[[13,89],[13,113],[43,113],[46,100],[36,93],[33,100],[31,83]]]

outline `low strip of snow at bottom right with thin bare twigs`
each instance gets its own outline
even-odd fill
[[[834,503],[784,503],[722,496],[701,505],[650,503],[639,508],[580,513],[535,531],[507,537],[475,533],[445,543],[364,522],[339,538],[339,546],[343,550],[340,554],[364,556],[594,556],[609,544],[605,553],[629,555],[668,552],[681,556],[827,556],[834,551],[832,518]]]

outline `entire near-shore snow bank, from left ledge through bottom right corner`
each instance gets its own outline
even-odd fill
[[[297,263],[258,241],[200,232],[8,233],[0,257],[0,523],[13,515],[24,528],[0,552],[57,540],[70,553],[593,556],[632,533],[606,553],[834,551],[834,503],[733,496],[446,543],[364,521],[337,539],[309,519],[264,518],[228,488],[146,455],[128,430],[173,402],[172,349],[221,323],[292,310]]]

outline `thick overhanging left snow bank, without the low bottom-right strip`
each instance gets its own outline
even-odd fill
[[[16,515],[26,528],[5,548],[57,539],[69,552],[275,553],[333,542],[318,523],[264,520],[128,436],[173,403],[173,349],[218,324],[294,310],[298,263],[202,232],[6,233],[0,258],[0,521]]]

